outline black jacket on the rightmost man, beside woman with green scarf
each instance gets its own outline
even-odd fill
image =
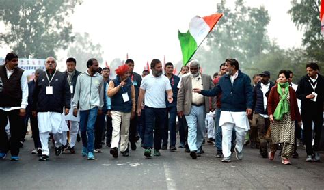
[[[317,93],[316,102],[307,99],[306,96],[308,94],[312,94],[314,91],[312,86],[310,85],[310,77],[308,75],[301,77],[299,81],[299,85],[296,90],[297,98],[301,100],[301,111],[302,113],[313,113],[313,111],[323,112],[323,100],[324,100],[324,79],[321,74],[318,74],[318,78],[316,80],[316,89]]]

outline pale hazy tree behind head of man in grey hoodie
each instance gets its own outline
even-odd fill
[[[87,70],[87,60],[96,58],[103,62],[103,51],[100,44],[92,43],[89,33],[75,33],[75,42],[68,47],[68,57],[77,59],[77,70]]]

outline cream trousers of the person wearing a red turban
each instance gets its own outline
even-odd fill
[[[113,124],[113,138],[111,148],[118,148],[120,139],[120,152],[126,151],[129,146],[129,125],[131,124],[131,112],[111,111]]]

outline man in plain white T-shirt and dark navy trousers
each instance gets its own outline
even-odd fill
[[[162,74],[163,68],[159,59],[151,62],[152,73],[141,81],[139,90],[137,114],[141,116],[141,103],[145,98],[145,133],[143,148],[144,156],[152,157],[153,141],[154,156],[160,156],[162,131],[166,120],[165,92],[167,100],[172,103],[172,89],[169,79]],[[154,130],[154,140],[153,140]]]

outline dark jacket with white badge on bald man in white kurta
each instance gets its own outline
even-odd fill
[[[68,79],[66,79],[65,74],[59,71],[56,72],[51,81],[51,86],[53,86],[52,95],[46,94],[47,86],[49,86],[49,81],[46,77],[46,72],[43,72],[40,74],[35,84],[31,110],[63,113],[63,107],[70,109],[70,86],[68,85]]]

